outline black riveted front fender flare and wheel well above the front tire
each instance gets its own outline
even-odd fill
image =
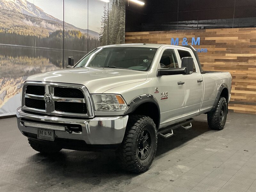
[[[155,96],[151,94],[142,94],[135,97],[125,111],[126,115],[145,115],[153,119],[158,130],[160,125],[160,108]]]

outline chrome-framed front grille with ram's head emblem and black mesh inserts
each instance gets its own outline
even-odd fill
[[[83,85],[25,82],[22,109],[50,115],[92,117],[92,103]]]

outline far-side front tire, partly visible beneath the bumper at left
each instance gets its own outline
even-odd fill
[[[41,142],[37,142],[36,140],[32,140],[32,139],[28,139],[28,143],[34,150],[44,154],[58,153],[62,149],[60,147],[53,146],[51,144],[44,144]]]

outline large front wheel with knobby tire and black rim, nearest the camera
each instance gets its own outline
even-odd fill
[[[148,170],[157,147],[154,121],[148,116],[129,116],[124,140],[116,151],[118,162],[127,171],[140,173]]]

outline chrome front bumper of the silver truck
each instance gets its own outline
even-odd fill
[[[21,133],[37,134],[36,127],[24,126],[21,118],[40,121],[42,124],[76,124],[81,125],[82,132],[68,133],[67,131],[54,130],[55,137],[63,139],[84,140],[86,144],[105,145],[122,143],[125,133],[128,115],[114,117],[95,117],[93,119],[69,119],[51,117],[46,115],[33,115],[25,113],[21,108],[17,109],[18,128]]]

